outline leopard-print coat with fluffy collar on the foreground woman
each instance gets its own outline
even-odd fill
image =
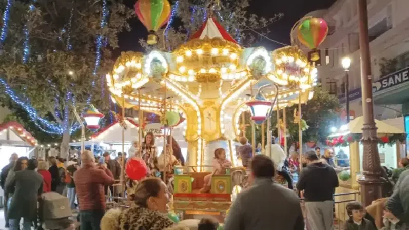
[[[110,209],[101,220],[101,230],[165,230],[176,224],[165,214],[139,206],[123,211]]]

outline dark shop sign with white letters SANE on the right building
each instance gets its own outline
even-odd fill
[[[409,67],[401,69],[397,72],[389,74],[384,78],[372,83],[373,92],[379,92],[381,90],[409,82]]]

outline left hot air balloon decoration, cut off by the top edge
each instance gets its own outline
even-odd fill
[[[155,32],[169,21],[170,8],[168,0],[138,0],[135,4],[139,20],[150,33],[147,40],[149,45],[156,44]]]

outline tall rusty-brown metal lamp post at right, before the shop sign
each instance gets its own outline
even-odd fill
[[[369,52],[368,11],[366,0],[358,0],[359,9],[359,45],[361,47],[361,85],[363,142],[363,177],[358,180],[361,185],[362,202],[365,206],[382,197],[381,163],[378,153],[376,124],[374,120],[374,104],[372,101],[371,54]]]

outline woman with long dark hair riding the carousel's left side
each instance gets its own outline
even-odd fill
[[[146,166],[148,166],[150,174],[152,176],[156,176],[156,172],[159,171],[159,168],[156,154],[155,136],[152,132],[146,133],[144,142],[142,142],[141,150],[142,159],[145,161]]]

